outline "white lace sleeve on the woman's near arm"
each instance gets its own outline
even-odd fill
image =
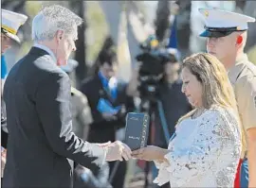
[[[161,164],[160,171],[169,172],[169,178],[176,186],[182,186],[195,177],[201,177],[203,173],[212,168],[212,164],[220,157],[224,147],[231,147],[230,140],[233,128],[227,119],[219,112],[209,113],[202,118],[192,145],[188,148],[173,147],[165,158],[171,165]],[[166,173],[165,173],[166,174]],[[163,179],[155,179],[162,184]],[[163,181],[164,182],[164,181]]]

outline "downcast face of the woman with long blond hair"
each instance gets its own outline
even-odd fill
[[[184,93],[193,107],[203,106],[203,87],[200,81],[192,75],[192,72],[187,67],[181,71],[182,93]]]

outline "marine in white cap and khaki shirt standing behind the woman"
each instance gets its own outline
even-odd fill
[[[256,187],[256,66],[247,59],[247,23],[255,19],[220,9],[199,9],[205,18],[207,50],[228,70],[242,124],[246,130],[247,152],[238,168],[235,187]],[[249,177],[249,179],[248,179]]]

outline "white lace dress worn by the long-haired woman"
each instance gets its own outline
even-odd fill
[[[241,132],[232,111],[215,107],[180,122],[165,156],[155,162],[158,185],[171,187],[233,187],[241,153]]]

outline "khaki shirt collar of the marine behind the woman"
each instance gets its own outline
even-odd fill
[[[243,70],[243,68],[245,66],[245,62],[247,62],[247,60],[248,60],[247,54],[242,54],[236,58],[234,66],[232,66],[229,69],[228,75],[229,75],[229,80],[232,85],[235,84],[235,82],[236,82],[237,78],[239,77],[241,71]]]

